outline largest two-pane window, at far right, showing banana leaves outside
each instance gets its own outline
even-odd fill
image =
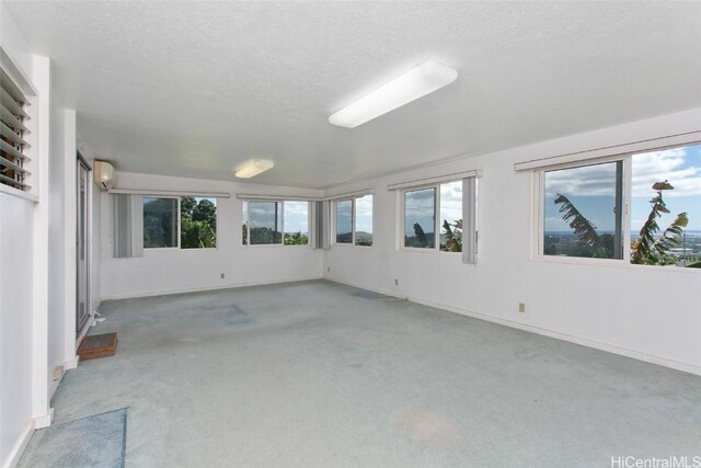
[[[541,170],[539,252],[701,266],[701,145]]]

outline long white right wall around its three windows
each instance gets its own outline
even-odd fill
[[[514,171],[518,161],[698,130],[699,122],[696,110],[334,187],[376,187],[375,247],[332,247],[325,277],[701,374],[701,273],[531,260],[530,175]],[[387,184],[471,169],[484,171],[478,264],[398,250],[398,195]]]

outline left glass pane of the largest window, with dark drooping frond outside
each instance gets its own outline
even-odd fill
[[[545,172],[545,255],[622,259],[623,162]]]

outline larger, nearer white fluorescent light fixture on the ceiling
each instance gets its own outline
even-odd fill
[[[346,128],[355,128],[382,114],[409,104],[418,98],[453,82],[458,71],[434,60],[424,61],[394,78],[350,105],[332,114],[329,122]]]

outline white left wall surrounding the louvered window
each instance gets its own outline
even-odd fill
[[[34,429],[50,424],[49,402],[58,386],[54,367],[74,359],[74,334],[66,333],[74,315],[74,303],[66,305],[74,277],[65,272],[74,262],[69,251],[74,222],[67,215],[74,212],[70,175],[76,116],[51,88],[49,59],[30,53],[4,4],[0,9],[3,50],[18,67],[18,79],[30,81],[36,92],[28,107],[35,128],[26,137],[32,145],[32,193],[5,186],[0,191],[0,465],[4,467],[18,460]]]

